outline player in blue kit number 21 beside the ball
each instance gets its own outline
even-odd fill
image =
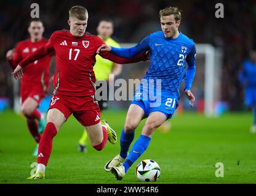
[[[111,171],[116,179],[121,180],[127,170],[140,157],[150,144],[156,128],[172,118],[180,99],[180,85],[185,80],[185,94],[194,105],[191,85],[196,73],[196,47],[192,39],[178,31],[182,15],[177,7],[166,7],[159,12],[162,31],[146,36],[132,48],[114,48],[102,45],[99,51],[110,51],[122,58],[131,58],[142,51],[150,50],[150,69],[144,81],[135,90],[134,100],[129,107],[126,122],[120,138],[120,153],[111,159],[105,170]],[[186,62],[188,67],[186,69]],[[161,79],[161,89],[156,79]],[[150,82],[153,80],[153,84]],[[159,93],[159,91],[161,91]],[[158,100],[151,99],[156,94]],[[129,146],[134,140],[134,132],[140,121],[147,118],[142,134],[135,141],[128,155]]]

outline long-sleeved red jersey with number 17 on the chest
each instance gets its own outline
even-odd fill
[[[94,64],[98,47],[104,44],[98,36],[85,32],[84,36],[74,37],[70,31],[56,31],[50,36],[49,42],[20,62],[20,66],[43,58],[55,51],[56,69],[54,74],[54,94],[64,96],[92,96],[95,94]],[[102,58],[118,64],[148,60],[145,54],[132,59],[119,58],[108,52],[99,54]]]

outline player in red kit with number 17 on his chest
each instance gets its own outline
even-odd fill
[[[39,143],[38,167],[30,179],[45,178],[45,169],[52,151],[52,140],[66,119],[73,116],[87,130],[91,145],[98,151],[106,145],[106,140],[116,143],[113,129],[100,121],[100,108],[95,100],[95,74],[93,66],[97,49],[103,40],[86,32],[88,13],[82,6],[73,6],[69,11],[70,31],[56,31],[49,42],[24,59],[16,67],[14,77],[23,77],[23,67],[30,62],[44,58],[55,51],[56,69],[54,75],[54,94],[47,114],[47,124]],[[118,64],[146,61],[145,54],[132,59],[119,58],[108,52],[99,54]]]

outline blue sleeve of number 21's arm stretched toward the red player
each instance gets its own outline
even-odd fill
[[[111,53],[122,58],[133,58],[134,56],[150,49],[150,35],[146,36],[140,43],[132,48],[111,47]]]

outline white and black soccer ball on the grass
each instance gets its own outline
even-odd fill
[[[136,167],[136,176],[140,181],[156,181],[160,173],[158,163],[151,159],[142,160]]]

